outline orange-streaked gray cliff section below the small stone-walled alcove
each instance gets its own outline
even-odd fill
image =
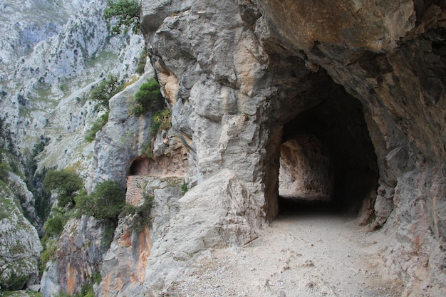
[[[103,280],[98,287],[98,296],[136,296],[136,292],[141,293],[152,242],[159,239],[170,219],[177,214],[182,182],[180,177],[141,176],[138,179],[138,189],[153,197],[150,224],[140,230],[135,229],[134,224],[141,218],[131,214],[120,218],[115,238],[103,261]],[[130,187],[138,186],[128,184]]]

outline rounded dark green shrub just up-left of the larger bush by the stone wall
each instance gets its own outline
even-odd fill
[[[63,208],[74,203],[76,193],[83,188],[83,181],[70,170],[49,170],[43,180],[43,188],[48,192],[55,190],[58,193],[58,206]]]

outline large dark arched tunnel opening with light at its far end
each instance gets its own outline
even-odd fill
[[[279,215],[356,216],[377,187],[378,165],[362,105],[341,86],[284,125]]]

